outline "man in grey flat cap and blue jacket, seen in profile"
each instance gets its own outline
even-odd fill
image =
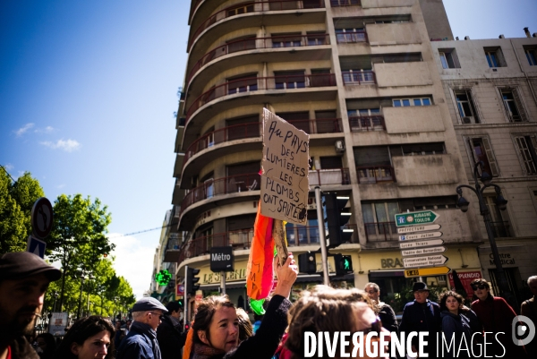
[[[166,307],[150,296],[134,303],[131,329],[117,349],[115,358],[161,359],[156,330],[166,312]]]

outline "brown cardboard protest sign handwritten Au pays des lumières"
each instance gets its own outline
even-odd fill
[[[306,224],[310,136],[263,109],[261,214]]]

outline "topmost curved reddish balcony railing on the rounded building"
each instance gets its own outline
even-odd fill
[[[243,13],[259,13],[267,11],[281,11],[281,10],[299,10],[299,9],[320,9],[324,7],[324,0],[283,0],[283,1],[263,1],[263,2],[249,2],[234,4],[227,7],[224,10],[214,13],[209,16],[206,21],[200,25],[200,27],[192,35],[192,39],[189,44],[189,51],[194,41],[200,37],[201,32],[208,29],[209,26],[223,21],[229,17],[241,15]]]

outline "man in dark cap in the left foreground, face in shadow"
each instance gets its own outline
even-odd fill
[[[0,359],[38,359],[25,335],[41,315],[48,284],[62,272],[30,252],[0,256]]]

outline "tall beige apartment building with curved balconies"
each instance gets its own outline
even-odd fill
[[[188,265],[201,270],[199,295],[217,292],[209,250],[231,245],[226,292],[246,301],[263,107],[310,134],[308,224],[287,225],[289,250],[320,248],[315,186],[350,198],[354,235],[330,252],[351,255],[354,273],[334,286],[375,281],[390,295],[407,284],[394,222],[407,210],[439,213],[450,268],[481,270],[476,212],[456,208],[455,188],[467,180],[430,44],[453,39],[441,1],[193,0],[189,24],[176,234],[165,249],[178,280]],[[317,263],[320,270],[320,254]],[[320,281],[301,274],[296,292]]]

